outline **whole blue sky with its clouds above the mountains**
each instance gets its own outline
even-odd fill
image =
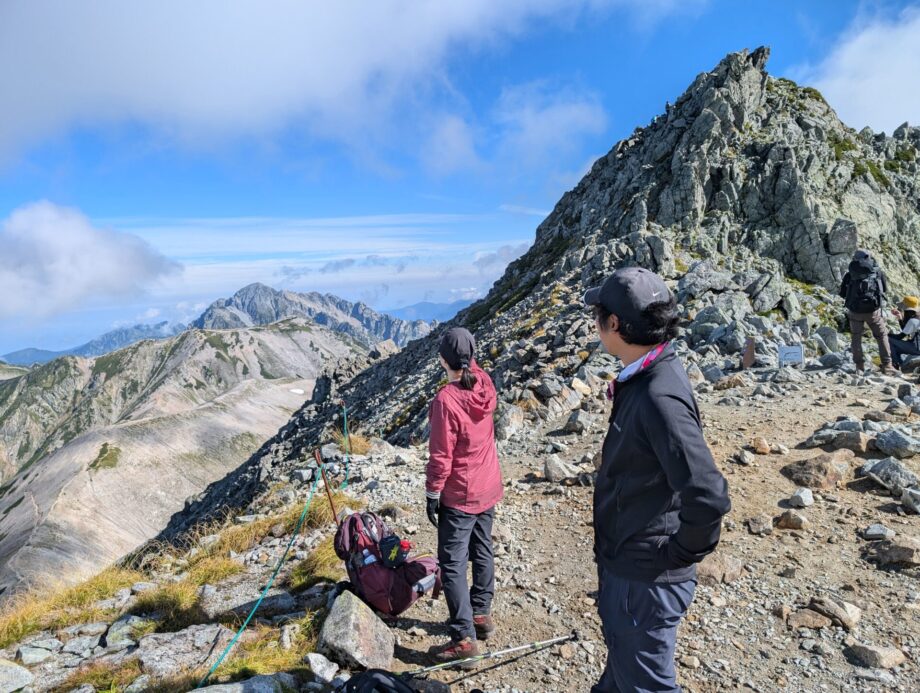
[[[850,125],[920,120],[917,3],[3,3],[0,354],[252,281],[483,295],[595,158],[761,44]]]

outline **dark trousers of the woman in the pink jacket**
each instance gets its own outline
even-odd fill
[[[450,612],[450,637],[476,639],[473,615],[488,614],[495,594],[492,521],[495,508],[478,515],[446,508],[438,512],[438,563],[444,598]],[[466,565],[473,562],[473,586],[466,583]]]

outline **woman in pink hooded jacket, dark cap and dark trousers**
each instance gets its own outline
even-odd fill
[[[431,402],[426,496],[428,519],[438,528],[438,562],[450,611],[450,642],[430,651],[436,663],[479,654],[477,637],[495,630],[492,521],[503,495],[492,414],[495,386],[476,364],[476,342],[455,327],[441,338],[448,383]],[[473,586],[466,582],[473,561]]]

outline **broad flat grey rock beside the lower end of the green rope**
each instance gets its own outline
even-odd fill
[[[221,625],[191,626],[141,638],[136,654],[144,673],[168,678],[212,666],[231,638],[233,631]]]

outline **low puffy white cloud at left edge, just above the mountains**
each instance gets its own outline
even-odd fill
[[[96,228],[75,209],[37,202],[0,226],[0,318],[47,317],[90,299],[143,294],[181,266],[137,236]]]

